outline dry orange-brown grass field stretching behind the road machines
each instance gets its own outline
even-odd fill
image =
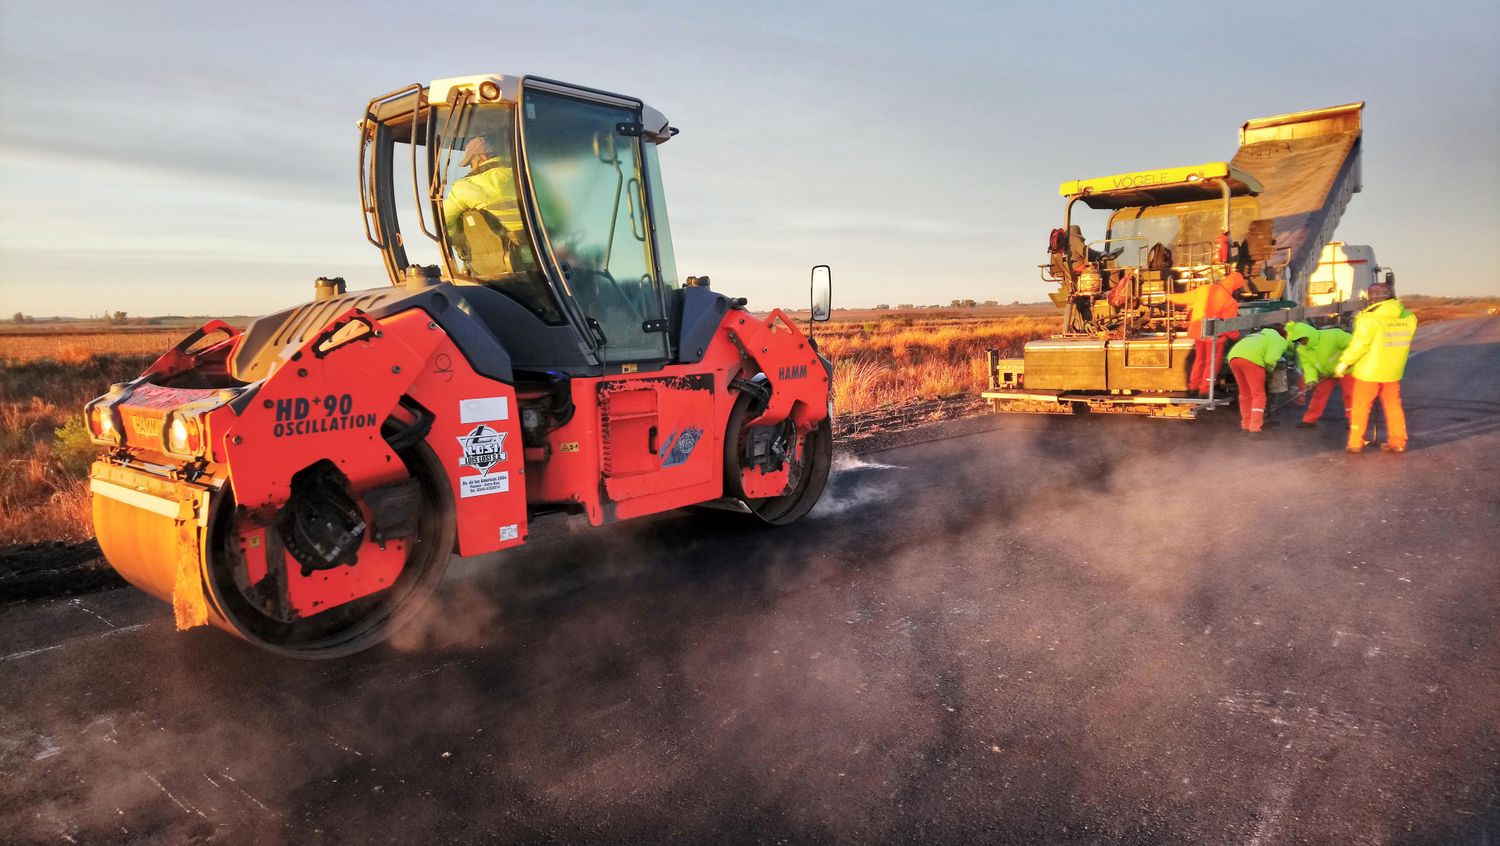
[[[1408,297],[1424,321],[1491,314],[1497,298]],[[816,338],[834,360],[834,411],[855,414],[924,399],[976,394],[986,350],[1018,356],[1056,332],[1050,306],[838,310]],[[190,332],[100,324],[24,326],[0,332],[0,548],[90,536],[86,476],[94,447],[84,402],[135,378]]]

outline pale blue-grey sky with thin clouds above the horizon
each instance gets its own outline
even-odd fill
[[[752,308],[1042,300],[1064,180],[1365,100],[1338,237],[1500,296],[1500,4],[0,2],[0,316],[264,314],[386,284],[356,120],[414,81],[639,96],[676,264]],[[1084,220],[1088,224],[1088,220]]]

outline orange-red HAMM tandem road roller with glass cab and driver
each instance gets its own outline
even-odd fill
[[[182,628],[327,658],[410,620],[452,555],[550,514],[807,514],[832,364],[783,312],[678,279],[657,153],[676,134],[640,99],[540,76],[370,99],[358,196],[390,285],[320,278],[88,402],[110,564]],[[423,237],[435,264],[412,258]],[[831,286],[816,267],[813,320]]]

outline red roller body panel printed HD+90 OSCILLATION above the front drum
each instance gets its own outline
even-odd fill
[[[410,396],[432,416],[424,440],[448,472],[459,554],[520,543],[526,507],[524,486],[514,478],[524,472],[514,387],[474,372],[426,312],[364,320],[375,327],[368,340],[322,358],[312,352],[316,338],[309,340],[225,432],[224,450],[240,504],[256,510],[285,502],[291,474],[322,458],[336,460],[356,494],[404,478],[406,471],[381,436],[381,423],[402,396]],[[328,404],[328,398],[342,404],[345,396],[351,398],[348,416]],[[303,399],[321,402],[303,406]],[[354,426],[327,429],[328,423]]]

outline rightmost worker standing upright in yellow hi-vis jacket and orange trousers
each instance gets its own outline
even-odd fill
[[[1386,442],[1382,450],[1406,452],[1406,411],[1401,408],[1401,376],[1412,354],[1416,315],[1408,312],[1384,282],[1370,286],[1370,306],[1354,318],[1354,338],[1334,368],[1335,376],[1353,374],[1354,400],[1348,410],[1348,453],[1365,450],[1370,410],[1380,398],[1386,414]]]

